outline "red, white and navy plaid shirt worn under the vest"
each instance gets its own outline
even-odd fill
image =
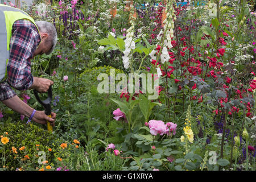
[[[7,80],[0,82],[0,100],[14,97],[17,90],[27,90],[33,83],[30,59],[40,43],[40,34],[30,20],[20,19],[13,24]]]

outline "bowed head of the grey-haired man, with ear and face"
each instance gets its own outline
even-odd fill
[[[36,49],[34,56],[42,55],[43,53],[46,53],[46,55],[49,55],[55,48],[55,45],[57,42],[56,28],[53,26],[52,23],[49,23],[46,21],[38,21],[35,23],[39,29],[41,42],[38,48]]]

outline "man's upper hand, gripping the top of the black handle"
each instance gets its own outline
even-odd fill
[[[34,77],[33,84],[29,89],[36,89],[39,93],[46,93],[51,85],[53,85],[53,81],[47,78]]]

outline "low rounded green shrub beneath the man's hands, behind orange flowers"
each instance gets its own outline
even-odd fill
[[[5,135],[5,133],[8,133]],[[5,125],[0,126],[0,134],[5,135],[9,138],[9,142],[0,145],[0,153],[3,154],[5,150],[5,162],[4,158],[0,158],[1,166],[5,163],[6,168],[15,170],[16,168],[36,168],[40,167],[38,164],[38,152],[46,152],[47,160],[49,163],[53,162],[54,155],[52,152],[48,151],[48,148],[56,150],[55,142],[57,137],[55,134],[49,133],[49,131],[44,130],[32,123],[30,125],[24,124],[24,122],[16,123],[5,123]],[[36,147],[36,144],[39,144],[39,147]],[[25,147],[24,150],[20,151],[20,147]],[[15,147],[17,154],[12,151],[11,147]],[[30,159],[24,158],[25,155],[28,155]]]

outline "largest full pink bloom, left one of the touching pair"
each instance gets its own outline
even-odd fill
[[[169,131],[168,127],[164,125],[164,122],[159,120],[150,120],[148,126],[152,135],[163,135]]]

